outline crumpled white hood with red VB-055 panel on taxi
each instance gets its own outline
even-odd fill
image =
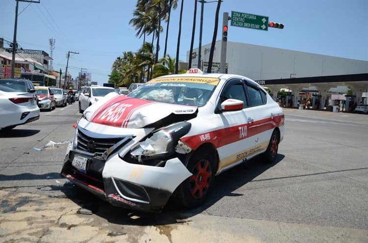
[[[171,114],[183,116],[197,111],[197,106],[168,104],[127,96],[115,96],[104,101],[96,102],[85,110],[84,115],[88,121],[116,127],[142,128]]]

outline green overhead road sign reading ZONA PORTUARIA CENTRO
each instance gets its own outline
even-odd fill
[[[268,30],[268,17],[231,11],[231,26]]]

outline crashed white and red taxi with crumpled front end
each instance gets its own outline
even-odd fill
[[[61,175],[116,206],[160,211],[173,196],[193,208],[215,175],[257,155],[273,163],[284,128],[282,108],[247,77],[161,76],[86,109]]]

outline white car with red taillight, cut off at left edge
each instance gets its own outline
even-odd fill
[[[0,79],[3,81],[3,79]],[[19,92],[0,82],[0,128],[13,129],[40,118],[34,90],[31,93]]]

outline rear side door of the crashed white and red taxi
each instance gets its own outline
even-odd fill
[[[248,99],[248,107],[245,109],[252,114],[249,122],[248,132],[255,141],[255,151],[253,155],[263,152],[269,143],[274,128],[272,118],[272,107],[267,105],[266,93],[252,82],[246,82],[246,94]]]

